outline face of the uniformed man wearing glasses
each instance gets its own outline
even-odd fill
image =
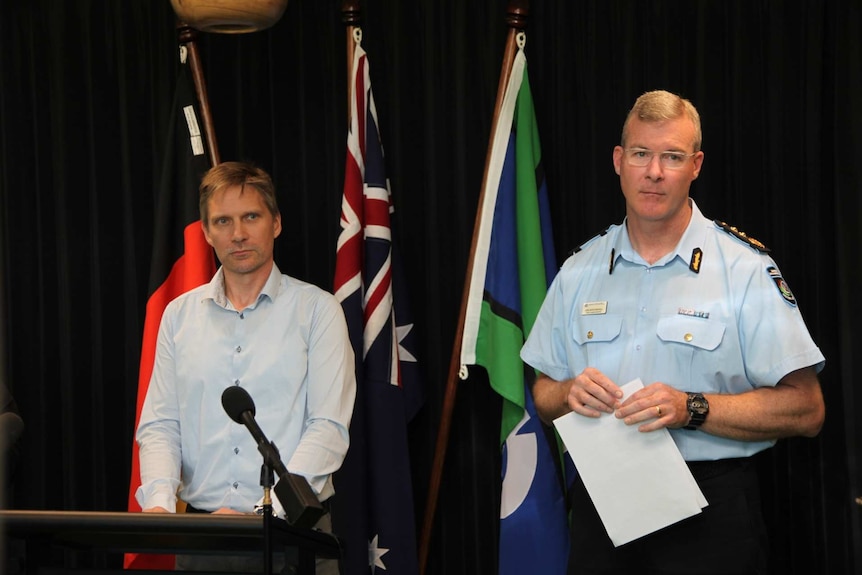
[[[614,148],[614,169],[620,176],[620,187],[626,198],[626,215],[643,222],[668,221],[684,212],[688,190],[700,173],[703,152],[694,153],[695,129],[688,117],[663,122],[629,122],[626,149],[655,152],[646,166],[633,166],[621,146]],[[662,165],[660,152],[679,152],[685,158],[681,167]]]

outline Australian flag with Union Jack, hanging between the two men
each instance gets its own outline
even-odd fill
[[[333,527],[347,575],[418,573],[407,422],[421,405],[413,324],[394,249],[392,194],[368,60],[357,43],[335,296],[356,355],[350,450],[335,474]]]

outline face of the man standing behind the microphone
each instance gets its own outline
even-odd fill
[[[209,221],[204,236],[227,274],[250,274],[272,262],[275,238],[281,233],[281,216],[267,209],[253,187],[232,186],[213,194],[208,202]]]

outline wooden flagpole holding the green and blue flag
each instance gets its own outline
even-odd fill
[[[446,446],[449,443],[449,430],[452,424],[452,412],[455,408],[455,394],[458,386],[458,372],[461,367],[461,340],[464,336],[464,321],[467,314],[467,300],[470,295],[470,278],[473,275],[473,260],[476,255],[478,242],[478,231],[482,222],[482,205],[484,204],[485,186],[488,181],[490,168],[491,148],[493,135],[497,132],[500,108],[503,105],[503,97],[506,94],[506,86],[509,83],[509,75],[515,60],[517,50],[516,36],[527,27],[527,16],[529,15],[529,0],[509,0],[506,9],[506,23],[509,31],[506,36],[506,47],[503,52],[503,65],[500,71],[500,81],[497,85],[497,100],[494,104],[494,117],[491,121],[491,137],[488,139],[488,152],[485,156],[485,171],[482,176],[482,189],[479,194],[479,203],[476,210],[476,219],[473,224],[473,239],[470,245],[470,255],[467,261],[464,289],[461,294],[461,309],[458,313],[458,326],[455,330],[455,341],[452,345],[452,355],[449,359],[449,375],[446,380],[446,391],[443,397],[443,412],[440,415],[440,427],[437,432],[437,446],[434,452],[434,463],[431,467],[431,479],[428,486],[428,498],[425,505],[425,518],[422,525],[422,536],[419,546],[419,572],[425,575],[428,561],[428,550],[431,540],[431,529],[434,525],[434,515],[437,509],[437,497],[440,492],[440,482],[443,476],[443,463],[446,459]]]

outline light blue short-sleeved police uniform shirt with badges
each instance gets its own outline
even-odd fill
[[[618,385],[640,378],[721,394],[822,370],[825,358],[772,258],[689,201],[679,244],[652,265],[632,248],[625,222],[569,257],[521,358],[557,381],[594,367]],[[688,461],[746,457],[775,443],[669,431]]]

